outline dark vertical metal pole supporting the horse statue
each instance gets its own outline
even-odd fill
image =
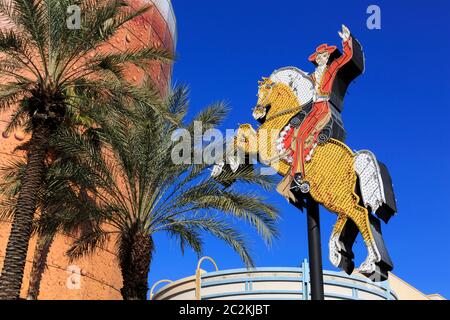
[[[324,300],[319,204],[311,196],[306,201],[311,300]]]

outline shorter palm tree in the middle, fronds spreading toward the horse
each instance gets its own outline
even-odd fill
[[[172,118],[185,122],[187,90],[175,90],[165,105]],[[89,221],[92,228],[81,235],[69,249],[72,259],[92,253],[111,236],[117,240],[117,254],[123,276],[121,290],[124,299],[145,299],[148,273],[155,251],[153,235],[167,232],[180,244],[197,253],[202,251],[202,231],[228,243],[247,266],[253,261],[243,235],[231,224],[231,218],[247,221],[270,244],[277,234],[274,207],[264,202],[255,191],[243,190],[242,183],[269,189],[273,181],[244,167],[235,173],[210,177],[207,164],[174,164],[171,135],[177,126],[149,110],[145,104],[136,107],[140,119],[117,115],[97,118],[101,140],[109,147],[97,152],[90,139],[77,131],[58,134],[54,141],[58,149],[78,158],[71,176],[90,183],[85,186],[95,194],[96,201],[79,216],[49,215],[44,212],[41,224],[51,230],[69,231],[80,221]],[[226,106],[218,103],[199,113],[183,127],[194,130],[200,121],[203,130],[214,128],[226,115]],[[83,178],[82,178],[83,177]],[[229,182],[237,181],[225,188]],[[241,184],[240,184],[240,183]]]

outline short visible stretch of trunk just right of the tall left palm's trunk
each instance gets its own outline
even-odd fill
[[[47,266],[47,257],[55,235],[39,235],[34,249],[33,267],[28,285],[28,300],[37,300],[41,287],[42,275]]]

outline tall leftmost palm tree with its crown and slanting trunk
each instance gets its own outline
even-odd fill
[[[0,111],[14,109],[8,131],[21,126],[31,134],[0,276],[0,299],[19,297],[49,137],[68,113],[83,113],[82,101],[95,99],[107,108],[113,98],[128,103],[157,99],[155,90],[143,92],[128,84],[124,66],[142,68],[149,59],[171,58],[154,48],[96,51],[149,7],[133,10],[119,0],[80,0],[81,29],[69,30],[65,16],[71,4],[70,0],[0,1],[0,14],[9,23],[0,30]]]

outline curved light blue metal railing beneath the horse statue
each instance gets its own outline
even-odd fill
[[[200,266],[205,260],[211,261],[216,271],[202,273]],[[249,273],[251,276],[249,276]],[[283,273],[286,273],[286,275],[282,275]],[[298,284],[298,289],[254,289],[254,284],[264,282],[272,282],[272,286],[274,283],[295,283]],[[243,290],[240,291],[224,291],[202,295],[202,291],[206,289],[240,283],[243,284]],[[396,294],[390,289],[388,281],[374,283],[362,276],[347,275],[343,272],[324,271],[324,286],[325,298],[360,300],[367,298],[367,296],[362,296],[367,294],[369,297],[381,298],[385,300],[398,299]],[[336,292],[333,292],[333,288],[348,289],[345,291],[350,291],[351,293],[343,294],[342,290],[336,290]],[[161,291],[163,289],[166,290],[168,288],[165,286],[161,288]],[[296,268],[243,268],[219,271],[217,264],[212,258],[203,257],[199,260],[195,273],[195,298],[197,300],[210,300],[216,298],[233,299],[233,297],[239,297],[239,299],[254,299],[255,296],[257,296],[258,299],[310,300],[311,295],[308,261],[305,259],[301,266]],[[271,296],[275,298],[271,298]]]

